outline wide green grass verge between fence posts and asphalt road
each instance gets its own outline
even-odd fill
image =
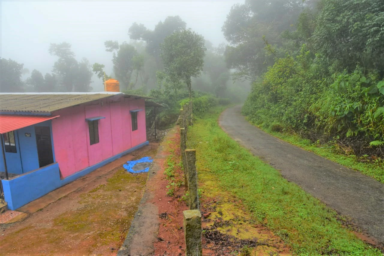
[[[343,228],[334,210],[225,134],[217,124],[221,110],[197,119],[189,129],[189,148],[197,150],[199,176],[218,177],[220,186],[242,200],[253,218],[279,235],[294,254],[381,255]]]

